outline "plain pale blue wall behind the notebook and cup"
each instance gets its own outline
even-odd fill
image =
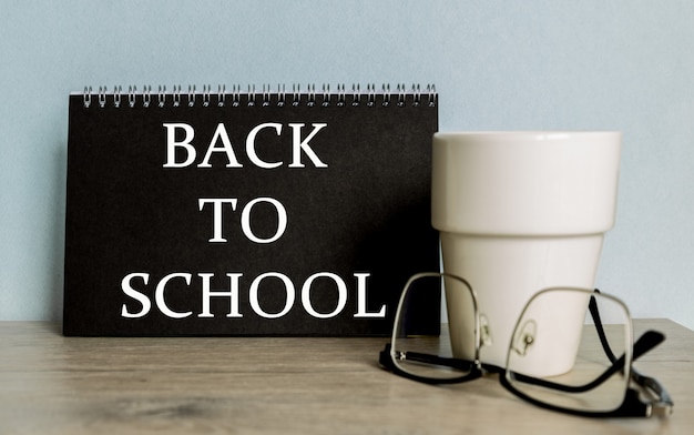
[[[622,131],[598,285],[634,317],[694,328],[692,1],[6,0],[0,10],[0,320],[62,316],[70,92],[436,83],[442,131]]]

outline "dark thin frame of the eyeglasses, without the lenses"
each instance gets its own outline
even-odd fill
[[[465,286],[467,291],[469,291],[469,295],[471,296],[472,302],[472,312],[474,313],[474,352],[471,360],[440,356],[426,352],[401,351],[397,348],[396,334],[399,333],[397,328],[401,316],[404,315],[404,301],[407,296],[408,290],[410,289],[410,284],[412,284],[412,282],[415,282],[416,280],[437,276],[446,280],[453,280],[456,285],[460,284]],[[560,289],[547,289],[538,292],[523,308],[521,317],[518,322],[519,325],[517,325],[517,330],[520,326],[523,314],[535,297],[541,297],[543,294],[559,290]],[[416,274],[410,277],[410,280],[406,284],[405,290],[402,291],[402,295],[400,297],[398,311],[396,313],[396,324],[394,326],[391,343],[387,344],[386,348],[380,352],[379,363],[385,368],[395,374],[427,384],[463,383],[481,377],[484,373],[497,373],[499,374],[501,385],[503,385],[506,390],[508,390],[516,396],[547,409],[573,415],[589,417],[650,417],[652,415],[664,416],[671,414],[673,408],[673,402],[665,388],[655,378],[644,376],[639,373],[632,365],[632,363],[636,361],[640,356],[647,353],[653,347],[663,342],[665,340],[665,336],[656,331],[647,331],[632,345],[631,317],[629,316],[629,310],[622,301],[614,296],[601,293],[599,290],[591,291],[584,289],[561,289],[561,291],[583,293],[589,299],[588,310],[590,312],[590,318],[592,320],[592,324],[594,325],[596,335],[600,340],[602,352],[604,352],[604,356],[606,356],[610,362],[610,365],[606,367],[606,370],[593,377],[590,382],[575,385],[567,385],[552,382],[548,378],[535,377],[514,372],[509,368],[509,364],[507,364],[507,368],[503,368],[481,363],[479,358],[479,351],[480,347],[483,345],[483,337],[480,333],[480,314],[477,307],[474,291],[466,280],[459,276],[436,272]],[[624,322],[626,323],[624,326],[625,331],[627,332],[627,334],[625,334],[625,340],[629,345],[626,345],[626,347],[624,348],[624,353],[620,356],[614,354],[614,351],[605,335],[605,327],[603,326],[598,304],[599,299],[608,300],[611,303],[614,303],[616,306],[622,307],[624,311]],[[396,343],[395,347],[392,346],[392,343]],[[509,353],[513,352],[513,343],[511,343],[509,346]],[[449,374],[445,376],[421,375],[419,373],[401,368],[404,362],[422,366],[440,367],[442,370],[453,370],[452,373],[455,374],[450,375],[449,372]],[[549,399],[539,399],[538,396],[528,394],[523,388],[519,387],[519,385],[529,385],[531,387],[540,387],[547,391],[557,392],[558,395],[580,395],[582,393],[586,393],[600,387],[608,380],[618,374],[621,374],[623,377],[625,377],[626,382],[623,386],[623,399],[621,401],[621,405],[613,409],[595,411],[590,408],[574,408],[570,406],[562,406],[561,404],[552,403]]]

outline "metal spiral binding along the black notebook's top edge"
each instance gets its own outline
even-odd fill
[[[412,107],[436,107],[438,104],[438,93],[433,84],[427,84],[422,90],[419,84],[412,84],[409,89],[404,83],[395,87],[391,93],[390,84],[384,83],[380,90],[377,90],[375,83],[366,85],[366,92],[361,91],[358,83],[351,85],[351,92],[347,92],[345,84],[339,83],[335,91],[330,90],[328,83],[324,83],[323,88],[316,93],[316,85],[308,84],[305,90],[300,85],[293,84],[292,91],[287,91],[284,84],[279,84],[273,90],[269,84],[263,84],[262,90],[256,91],[255,84],[248,84],[247,91],[244,92],[239,84],[232,85],[231,92],[227,92],[226,85],[220,84],[216,92],[212,90],[210,84],[203,85],[202,92],[197,92],[195,85],[188,85],[187,92],[184,92],[180,84],[173,87],[171,91],[165,85],[159,85],[156,92],[152,91],[151,85],[144,85],[141,91],[135,85],[127,87],[124,91],[123,87],[115,85],[112,91],[108,87],[99,87],[96,93],[92,92],[92,87],[84,87],[83,92],[84,108],[90,108],[96,102],[99,108],[114,107],[120,108],[127,105],[134,108],[142,105],[149,108],[151,105],[165,108],[172,105],[174,108],[185,104],[187,107],[284,107],[284,105],[322,105],[322,107],[345,107],[345,105],[367,105],[382,107],[396,105],[404,108]]]

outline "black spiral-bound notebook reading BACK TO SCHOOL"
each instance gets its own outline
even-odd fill
[[[439,269],[438,95],[314,89],[71,94],[64,334],[390,334]]]

